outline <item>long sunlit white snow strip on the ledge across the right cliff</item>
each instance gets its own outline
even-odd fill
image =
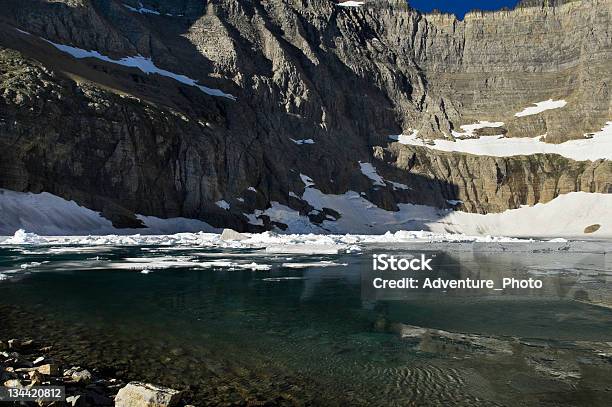
[[[607,122],[601,131],[582,140],[570,140],[561,144],[549,144],[542,136],[525,138],[505,138],[503,136],[483,136],[474,139],[432,140],[425,143],[416,135],[390,136],[401,144],[422,146],[440,151],[452,151],[494,157],[511,157],[531,154],[559,154],[573,160],[612,159],[612,121]]]

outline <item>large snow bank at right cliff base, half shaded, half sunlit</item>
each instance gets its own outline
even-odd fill
[[[303,199],[316,209],[330,208],[342,214],[338,221],[321,224],[331,233],[429,230],[476,236],[577,237],[586,236],[587,226],[600,224],[589,236],[612,236],[612,194],[573,192],[545,204],[487,215],[412,204],[399,204],[397,212],[386,211],[354,191],[329,195],[307,188]]]

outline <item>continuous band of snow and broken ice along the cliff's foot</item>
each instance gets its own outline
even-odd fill
[[[352,251],[351,246],[372,242],[513,241],[491,236],[612,237],[612,194],[573,192],[545,204],[487,215],[413,204],[399,204],[399,211],[387,211],[354,191],[331,195],[313,187],[306,188],[302,199],[315,210],[330,208],[342,216],[338,220],[328,218],[320,225],[313,224],[308,216],[273,202],[271,208],[258,211],[258,215],[265,214],[272,222],[286,224],[287,230],[282,233],[247,233],[245,240],[224,241],[218,234],[220,230],[197,220],[139,216],[148,229],[115,229],[99,213],[72,201],[47,193],[0,190],[0,235],[13,235],[4,242],[0,239],[0,244],[266,247],[283,253],[339,253]],[[254,217],[255,221],[261,222]],[[585,234],[585,228],[592,225],[600,227]],[[190,230],[191,233],[168,234],[177,230]],[[215,233],[193,233],[196,230]],[[32,232],[85,236],[42,237]],[[349,232],[352,234],[343,235]]]

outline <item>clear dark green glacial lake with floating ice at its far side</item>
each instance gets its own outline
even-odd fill
[[[200,406],[609,406],[612,270],[588,247],[0,246],[0,338]],[[383,252],[543,288],[372,291]]]

